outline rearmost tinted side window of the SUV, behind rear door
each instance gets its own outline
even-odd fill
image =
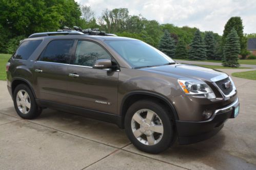
[[[24,41],[19,45],[13,58],[27,60],[41,42],[42,40]]]

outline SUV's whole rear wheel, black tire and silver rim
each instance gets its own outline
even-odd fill
[[[42,112],[42,109],[36,105],[32,91],[25,84],[19,84],[14,89],[13,103],[18,115],[25,119],[36,118]]]

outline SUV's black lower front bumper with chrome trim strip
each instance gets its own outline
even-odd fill
[[[218,133],[228,118],[234,117],[234,108],[239,105],[239,99],[226,107],[215,110],[210,119],[202,122],[176,121],[176,129],[180,144],[199,142]]]

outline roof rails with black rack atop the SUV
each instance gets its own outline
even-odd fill
[[[79,27],[74,26],[74,30],[71,30],[69,27],[64,27],[63,30],[57,30],[56,32],[45,32],[45,33],[35,33],[30,35],[28,38],[35,37],[45,37],[45,36],[53,36],[53,35],[102,35],[102,36],[116,36],[115,34],[106,34],[103,31],[99,31],[99,29],[86,29],[83,30]]]

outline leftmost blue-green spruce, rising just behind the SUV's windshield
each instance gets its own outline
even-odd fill
[[[175,54],[174,40],[171,38],[170,33],[167,30],[165,30],[164,36],[160,40],[159,50],[171,58],[174,57],[174,54]]]

